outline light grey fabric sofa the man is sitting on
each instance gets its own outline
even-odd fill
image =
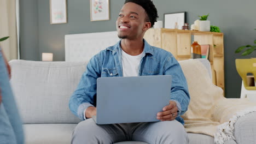
[[[207,62],[206,67],[209,66]],[[9,64],[12,70],[11,85],[24,122],[26,143],[70,143],[73,129],[80,120],[68,109],[68,101],[87,63],[13,60]],[[243,143],[245,136],[248,143],[256,142],[255,113],[240,119],[235,125],[238,141],[226,143]],[[249,123],[245,123],[245,120]],[[188,136],[190,144],[214,143],[211,136],[191,133]]]

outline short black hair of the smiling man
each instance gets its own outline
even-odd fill
[[[158,19],[158,10],[151,0],[125,0],[124,4],[129,2],[141,5],[147,13],[146,21],[151,22],[151,27],[155,25],[156,19]]]

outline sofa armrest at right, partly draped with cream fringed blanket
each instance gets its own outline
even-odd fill
[[[221,124],[214,134],[216,143],[226,143],[230,140],[238,140],[237,144],[245,143],[245,140],[256,140],[256,104],[251,103],[248,99],[223,99],[218,101],[214,107],[214,121]],[[248,122],[247,122],[248,121]],[[255,122],[254,122],[255,121]],[[252,128],[248,123],[255,123]],[[241,126],[242,125],[242,126]],[[246,128],[245,128],[246,127]],[[251,131],[255,131],[255,134]],[[241,134],[243,133],[243,134]],[[248,138],[247,135],[250,135]]]

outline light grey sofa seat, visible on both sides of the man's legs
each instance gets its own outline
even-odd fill
[[[71,142],[73,130],[77,124],[24,124],[27,144],[65,144]],[[188,133],[189,144],[214,144],[213,137]],[[146,142],[124,141],[115,144],[146,144]]]

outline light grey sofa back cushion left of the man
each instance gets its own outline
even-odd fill
[[[11,86],[24,123],[78,123],[68,108],[86,62],[13,60]]]

